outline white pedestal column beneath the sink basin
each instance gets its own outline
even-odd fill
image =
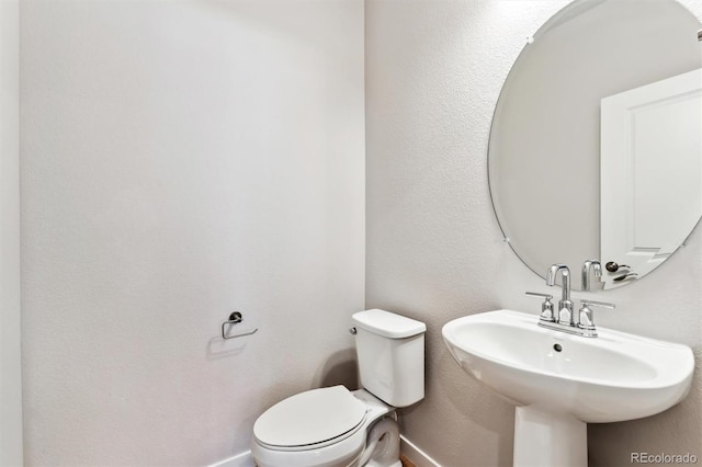
[[[514,467],[587,467],[587,424],[533,406],[514,413]]]

